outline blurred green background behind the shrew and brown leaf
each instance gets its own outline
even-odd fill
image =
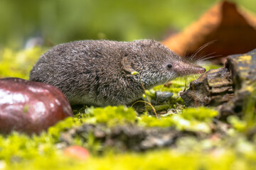
[[[163,40],[188,26],[215,0],[0,0],[0,48],[85,39]],[[255,0],[236,1],[256,11]],[[253,5],[252,5],[253,4]]]

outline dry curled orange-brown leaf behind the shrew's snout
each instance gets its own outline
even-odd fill
[[[233,2],[220,1],[198,21],[163,43],[178,55],[184,56],[195,54],[200,47],[212,41],[215,42],[198,52],[197,58],[209,54],[225,57],[255,49],[256,16],[238,8]],[[225,60],[219,58],[219,61]]]

